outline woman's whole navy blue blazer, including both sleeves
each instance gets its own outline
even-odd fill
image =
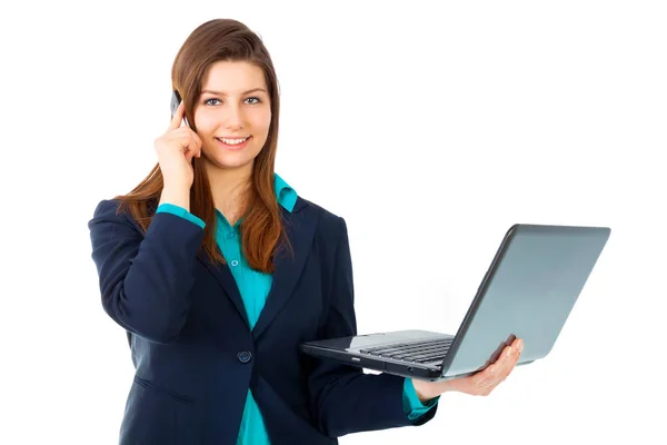
[[[248,388],[272,444],[337,444],[364,431],[421,425],[402,407],[404,378],[319,360],[302,342],[357,334],[342,218],[298,198],[280,207],[281,248],[266,306],[250,330],[227,265],[209,261],[203,230],[169,212],[143,235],[118,201],[89,221],[106,313],[128,333],[136,375],[120,444],[236,444]]]

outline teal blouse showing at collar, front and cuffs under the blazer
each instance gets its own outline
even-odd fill
[[[291,212],[297,202],[297,192],[278,175],[275,175],[275,189],[278,204]],[[200,218],[172,204],[165,202],[158,207],[157,211],[177,215],[202,229],[206,226],[206,222]],[[272,277],[270,274],[253,270],[248,266],[241,249],[240,221],[231,227],[219,210],[216,210],[216,240],[237,283],[252,329],[269,295]],[[412,380],[410,378],[405,379],[402,406],[406,415],[411,421],[426,414],[437,402],[438,397],[424,405],[417,397]],[[261,412],[252,398],[252,393],[248,389],[237,445],[268,445],[269,443]]]

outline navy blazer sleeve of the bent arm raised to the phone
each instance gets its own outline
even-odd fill
[[[203,230],[171,212],[156,212],[146,234],[102,200],[88,222],[104,312],[126,330],[155,343],[175,340],[190,305],[188,294]]]

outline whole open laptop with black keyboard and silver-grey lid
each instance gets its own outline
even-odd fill
[[[524,339],[517,365],[549,354],[611,230],[516,224],[506,233],[456,335],[412,329],[307,342],[301,352],[430,382],[465,377]]]

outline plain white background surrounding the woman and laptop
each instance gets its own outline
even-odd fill
[[[341,444],[667,443],[664,2],[276,3],[2,7],[0,443],[117,443],[133,369],[87,222],[155,165],[212,18],[273,58],[277,171],[346,218],[359,332],[456,332],[515,222],[613,230],[547,358]]]

